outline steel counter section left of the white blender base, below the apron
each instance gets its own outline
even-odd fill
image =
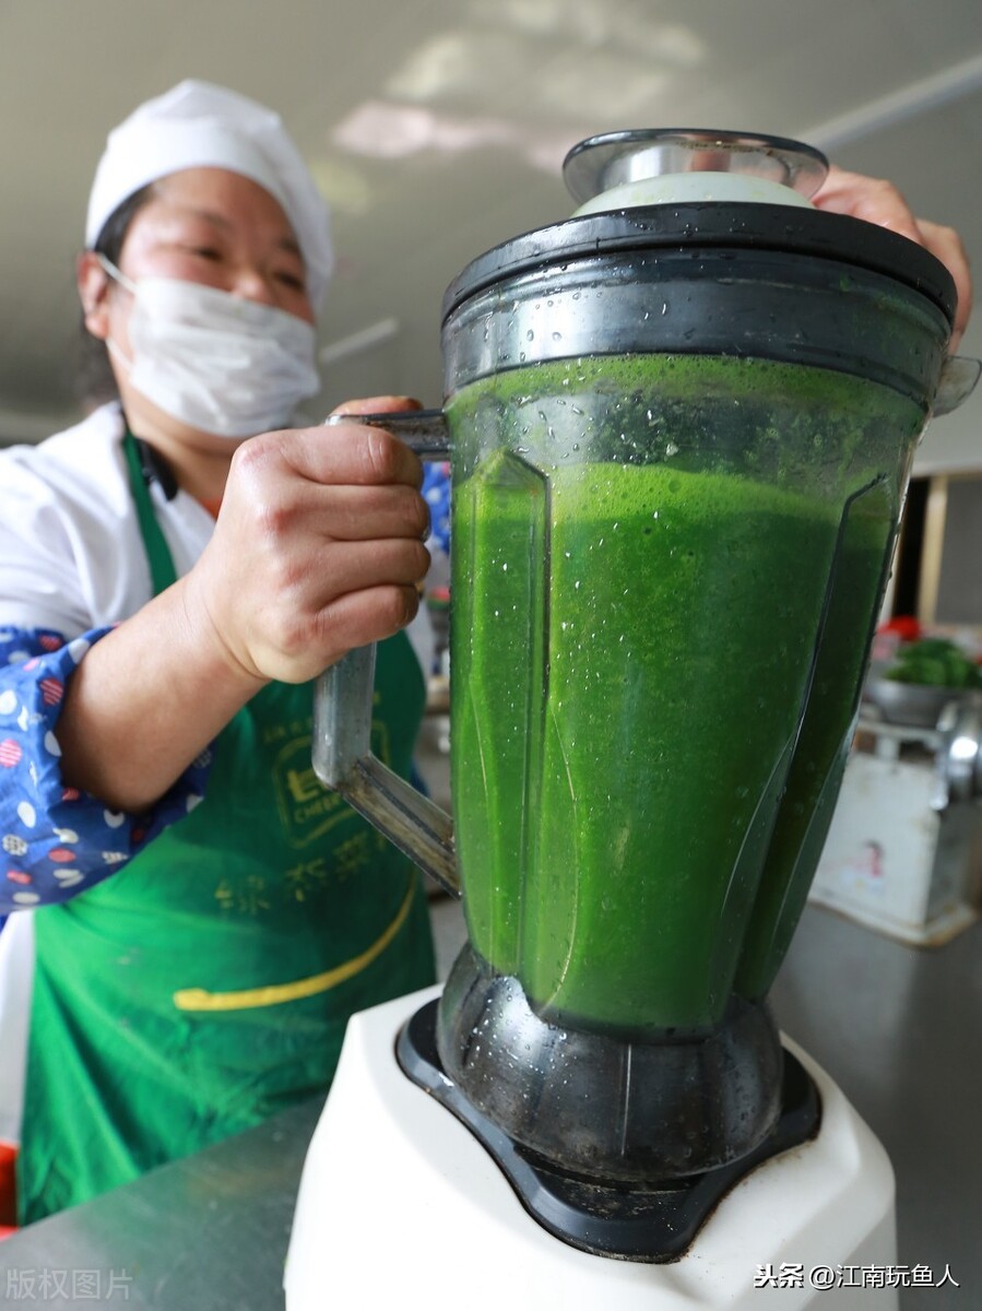
[[[278,1311],[324,1099],[0,1243],[0,1307]]]

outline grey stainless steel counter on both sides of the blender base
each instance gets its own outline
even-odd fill
[[[434,920],[446,977],[464,936],[459,905],[441,899]],[[899,1259],[937,1277],[949,1265],[960,1285],[903,1289],[903,1311],[982,1306],[979,947],[982,923],[923,950],[809,907],[772,996],[781,1028],[839,1083],[894,1163]],[[296,1189],[321,1105],[1,1242],[0,1307],[282,1311]]]

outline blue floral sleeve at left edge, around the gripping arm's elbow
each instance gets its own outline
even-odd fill
[[[51,631],[0,625],[0,916],[93,888],[205,794],[211,750],[139,815],[62,781],[56,724],[66,683],[109,631],[66,642]]]

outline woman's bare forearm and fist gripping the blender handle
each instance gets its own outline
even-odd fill
[[[408,623],[430,558],[421,480],[401,442],[363,425],[244,442],[198,564],[69,679],[58,722],[66,783],[140,812],[270,679],[305,682]]]

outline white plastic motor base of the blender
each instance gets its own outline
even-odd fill
[[[548,1234],[471,1131],[399,1068],[399,1030],[439,991],[349,1021],[300,1180],[287,1311],[423,1298],[467,1311],[760,1311],[775,1295],[781,1311],[895,1311],[894,1289],[810,1286],[818,1266],[894,1264],[894,1184],[878,1141],[792,1042],[822,1097],[818,1138],[742,1180],[679,1261],[619,1261]],[[755,1287],[760,1266],[776,1276],[785,1262],[804,1270],[804,1287]]]

